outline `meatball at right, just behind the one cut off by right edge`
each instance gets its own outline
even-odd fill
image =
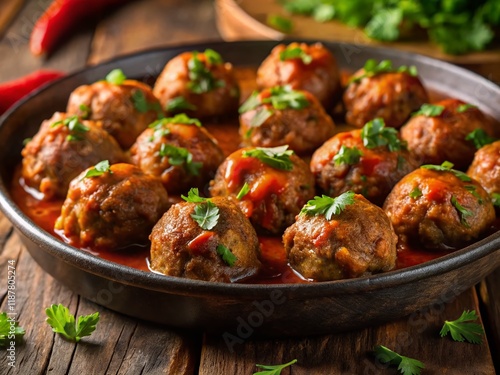
[[[493,136],[492,124],[476,107],[457,99],[446,99],[426,106],[436,114],[419,114],[401,128],[401,138],[421,163],[452,162],[465,170],[474,158],[476,148],[466,137],[476,129]],[[425,108],[425,107],[424,107]],[[439,113],[439,114],[437,114]]]

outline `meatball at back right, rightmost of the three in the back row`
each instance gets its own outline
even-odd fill
[[[397,71],[367,74],[367,65],[353,75],[344,92],[348,124],[361,128],[380,117],[387,126],[399,128],[412,112],[429,101],[416,75]]]

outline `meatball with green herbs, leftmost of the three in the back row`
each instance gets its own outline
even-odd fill
[[[240,100],[233,66],[211,49],[174,57],[153,92],[168,112],[197,118],[236,114]]]

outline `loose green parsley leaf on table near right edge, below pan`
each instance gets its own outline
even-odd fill
[[[479,319],[475,310],[465,310],[460,318],[452,321],[445,320],[443,328],[439,334],[441,337],[451,334],[451,338],[455,341],[470,342],[472,344],[481,344],[482,335],[484,330],[481,324],[472,323],[474,320]]]

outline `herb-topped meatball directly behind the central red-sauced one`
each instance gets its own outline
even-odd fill
[[[254,93],[240,108],[240,136],[248,146],[288,145],[299,154],[314,151],[335,125],[307,91],[276,86]]]

